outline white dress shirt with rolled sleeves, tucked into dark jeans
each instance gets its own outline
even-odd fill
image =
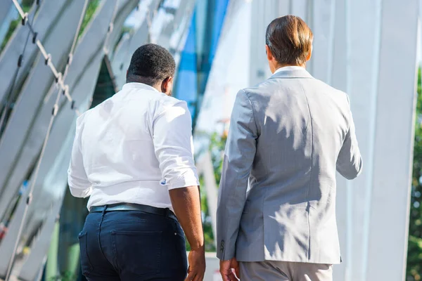
[[[170,208],[168,190],[199,185],[186,102],[125,84],[77,119],[70,192],[88,209],[114,203]]]

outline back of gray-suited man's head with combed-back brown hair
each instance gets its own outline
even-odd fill
[[[313,38],[305,21],[285,15],[268,25],[265,44],[279,65],[305,65],[312,52]]]

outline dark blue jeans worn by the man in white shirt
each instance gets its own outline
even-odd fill
[[[174,218],[142,211],[90,213],[79,246],[89,281],[186,278],[184,233]]]

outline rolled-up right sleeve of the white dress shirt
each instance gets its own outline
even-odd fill
[[[185,188],[199,185],[193,160],[191,113],[186,102],[178,101],[153,120],[155,155],[160,162],[162,185]]]

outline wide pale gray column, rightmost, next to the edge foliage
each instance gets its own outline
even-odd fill
[[[416,101],[418,1],[384,0],[365,280],[404,280]]]

